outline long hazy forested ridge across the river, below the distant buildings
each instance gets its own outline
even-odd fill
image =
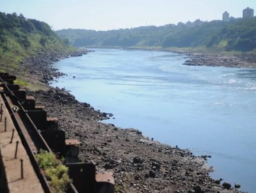
[[[230,23],[214,20],[196,27],[170,24],[109,31],[63,29],[56,33],[74,46],[203,47],[241,52],[256,49],[256,17],[238,18]]]

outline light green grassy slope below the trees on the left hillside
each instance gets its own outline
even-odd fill
[[[48,36],[45,46],[40,41],[41,34],[39,32],[24,34],[21,29],[16,29],[19,35],[27,35],[30,46],[25,48],[19,43],[18,37],[13,35],[14,31],[3,31],[5,42],[0,42],[0,70],[5,72],[14,72],[19,69],[19,63],[28,56],[36,57],[40,53],[45,52],[73,52],[77,49],[70,45],[65,45],[54,35]]]

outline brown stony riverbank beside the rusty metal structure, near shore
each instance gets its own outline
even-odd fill
[[[149,139],[139,130],[103,124],[99,121],[112,114],[99,112],[90,104],[76,101],[64,89],[49,86],[53,77],[64,75],[52,68],[52,62],[68,56],[71,53],[55,52],[27,58],[21,63],[23,70],[16,75],[37,85],[29,93],[35,96],[37,105],[45,106],[50,116],[59,119],[59,127],[68,137],[81,142],[80,160],[93,160],[97,170],[113,173],[116,192],[239,192],[221,179],[209,176],[212,171],[207,165],[209,155],[194,156],[178,146],[170,147]]]

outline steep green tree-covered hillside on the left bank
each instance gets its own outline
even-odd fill
[[[74,48],[62,40],[47,23],[26,19],[22,14],[0,12],[0,63],[15,66],[28,55],[68,51]],[[1,67],[1,66],[0,66]]]

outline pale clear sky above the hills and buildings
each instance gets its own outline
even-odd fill
[[[242,17],[255,0],[0,0],[0,12],[22,13],[52,29],[110,30],[169,23]]]

